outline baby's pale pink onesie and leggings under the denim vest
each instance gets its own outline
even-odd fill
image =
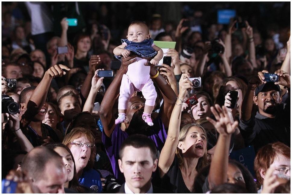
[[[135,91],[142,91],[146,99],[145,105],[155,105],[157,93],[153,81],[150,79],[150,66],[144,65],[144,63],[147,63],[146,59],[140,57],[136,57],[136,59],[137,61],[130,64],[127,73],[123,75],[118,109],[126,110],[128,108],[128,102]]]

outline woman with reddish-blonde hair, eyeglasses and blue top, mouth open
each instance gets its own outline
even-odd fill
[[[93,134],[87,129],[76,127],[64,137],[62,143],[72,152],[79,183],[100,193],[102,191],[100,175],[92,169],[95,158]]]

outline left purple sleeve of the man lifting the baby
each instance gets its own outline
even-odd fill
[[[105,146],[106,154],[111,161],[112,170],[115,177],[121,181],[123,181],[124,175],[121,173],[118,165],[119,150],[121,144],[127,137],[128,134],[122,131],[118,125],[115,126],[110,138],[105,135],[104,131],[102,131],[102,143]]]

